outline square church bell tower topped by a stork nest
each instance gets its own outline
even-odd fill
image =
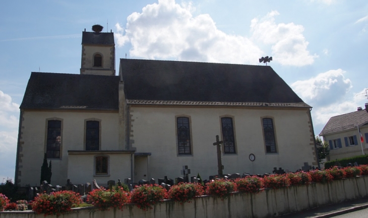
[[[114,34],[101,32],[101,25],[93,25],[93,32],[82,32],[81,74],[115,76]]]

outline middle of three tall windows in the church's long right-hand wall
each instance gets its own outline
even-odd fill
[[[234,127],[231,117],[221,118],[222,140],[224,141],[224,153],[236,154],[235,152],[235,137]]]

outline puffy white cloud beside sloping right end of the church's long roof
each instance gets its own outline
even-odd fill
[[[329,105],[341,100],[351,89],[351,81],[345,79],[346,71],[329,70],[309,80],[296,81],[291,88],[305,102],[313,105]]]

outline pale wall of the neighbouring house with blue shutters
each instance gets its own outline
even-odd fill
[[[330,155],[329,155],[330,161],[333,161],[335,159],[363,155],[361,152],[361,147],[363,147],[364,154],[367,154],[368,153],[368,143],[367,143],[367,139],[365,138],[365,133],[368,132],[368,127],[367,126],[360,127],[360,132],[364,139],[364,142],[362,143],[360,142],[360,136],[359,136],[359,132],[357,128],[324,135],[323,136],[324,140],[327,142],[329,142],[329,140],[334,140],[338,138],[341,139],[342,148],[338,148],[338,149],[334,148],[333,150],[330,150]],[[356,135],[358,144],[354,146],[346,147],[344,137],[349,137],[353,135]]]

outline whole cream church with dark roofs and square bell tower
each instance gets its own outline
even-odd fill
[[[270,66],[120,59],[112,33],[83,32],[80,75],[32,72],[20,106],[15,183],[179,177],[317,166],[311,106]],[[252,154],[252,156],[251,156]],[[250,158],[252,157],[252,158]]]

